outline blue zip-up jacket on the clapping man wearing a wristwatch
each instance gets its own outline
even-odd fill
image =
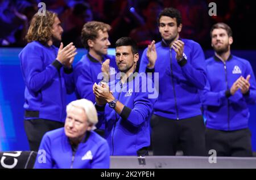
[[[97,125],[105,121],[105,139],[112,156],[137,156],[139,149],[150,145],[149,122],[158,93],[146,75],[135,73],[134,77],[123,84],[119,79],[110,82],[113,96],[125,105],[121,115],[109,105],[96,105]]]

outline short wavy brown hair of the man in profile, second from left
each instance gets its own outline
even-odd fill
[[[98,31],[106,32],[111,29],[109,24],[102,23],[102,22],[88,22],[84,24],[84,27],[82,27],[82,33],[81,33],[81,41],[82,45],[86,49],[89,49],[88,40],[95,40],[98,37]]]

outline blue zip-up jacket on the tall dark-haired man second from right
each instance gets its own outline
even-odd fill
[[[192,40],[184,42],[183,59],[178,63],[175,50],[166,42],[155,44],[158,55],[155,68],[147,68],[147,49],[144,50],[139,72],[159,73],[159,98],[154,106],[154,114],[169,119],[184,119],[201,114],[199,89],[207,81],[205,58],[201,46]],[[156,82],[157,88],[158,84]]]

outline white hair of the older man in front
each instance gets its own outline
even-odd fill
[[[90,125],[96,125],[98,123],[97,110],[92,101],[82,98],[81,100],[72,101],[67,105],[66,111],[70,110],[72,106],[84,109],[87,116],[87,121]]]

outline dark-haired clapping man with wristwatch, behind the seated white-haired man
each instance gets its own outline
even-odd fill
[[[115,45],[121,73],[109,85],[93,85],[99,122],[105,122],[110,155],[145,156],[150,145],[149,120],[158,94],[146,75],[134,73],[139,59],[137,43],[122,37]]]

